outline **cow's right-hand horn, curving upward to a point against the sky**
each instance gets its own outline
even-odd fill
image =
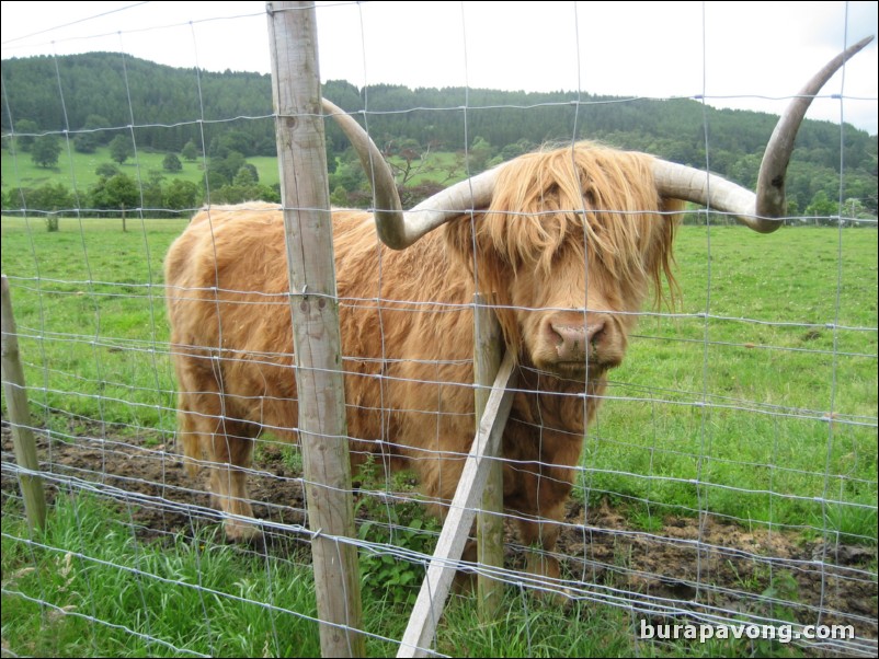
[[[781,226],[777,219],[787,213],[785,177],[797,131],[815,94],[848,58],[872,41],[859,41],[831,61],[806,84],[790,102],[773,131],[757,176],[757,192],[752,193],[726,178],[703,170],[657,160],[653,176],[661,196],[684,199],[729,212],[754,231],[770,233]]]

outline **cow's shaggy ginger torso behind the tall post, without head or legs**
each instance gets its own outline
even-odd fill
[[[333,233],[349,435],[363,440],[352,444],[355,462],[376,450],[421,458],[441,441],[466,452],[473,427],[467,273],[441,235],[404,252],[381,246],[363,211],[334,211]],[[165,281],[181,390],[219,390],[224,415],[294,439],[278,207],[202,210],[171,246]]]

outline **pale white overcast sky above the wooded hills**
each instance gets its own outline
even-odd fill
[[[3,59],[110,50],[271,68],[265,2],[1,4]],[[322,80],[705,95],[778,114],[836,53],[877,34],[877,2],[341,1],[319,3],[318,25]],[[877,53],[874,42],[824,88],[843,101],[819,99],[809,116],[876,134]]]

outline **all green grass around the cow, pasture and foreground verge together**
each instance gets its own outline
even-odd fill
[[[123,233],[119,220],[62,218],[60,231],[48,233],[39,219],[2,219],[2,271],[12,286],[37,424],[76,436],[77,421],[84,432],[89,420],[100,419],[123,437],[145,430],[171,437],[174,382],[161,263],[184,226],[129,220]],[[646,531],[711,511],[802,542],[832,536],[875,547],[876,232],[756,235],[685,227],[676,253],[683,300],[673,316],[664,309],[640,321],[626,363],[610,375],[612,400],[587,432],[574,497],[609,502]],[[197,542],[141,542],[114,521],[124,511],[99,498],[59,497],[35,545],[20,540],[27,532],[18,500],[5,493],[3,512],[4,590],[55,603],[41,608],[4,593],[4,647],[19,655],[176,656],[140,635],[216,656],[319,651],[308,617],[311,575],[301,565],[242,553],[209,534]],[[870,569],[875,582],[875,557]],[[496,625],[479,625],[470,600],[454,604],[437,649],[670,654],[636,643],[623,610],[585,603],[562,610],[510,598],[510,613]],[[364,608],[369,632],[400,637],[408,608],[374,594]],[[118,621],[119,612],[127,628],[92,622]],[[301,626],[290,627],[294,622]],[[368,649],[370,656],[397,651],[377,639]],[[762,654],[728,645],[673,646],[671,654],[683,651]]]

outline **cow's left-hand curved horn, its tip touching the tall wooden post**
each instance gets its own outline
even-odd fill
[[[404,212],[393,174],[375,142],[357,122],[327,99],[323,99],[323,109],[335,119],[351,140],[363,169],[372,173],[376,198],[376,231],[381,242],[389,247],[404,250],[452,218],[470,209],[484,208],[491,201],[496,170],[461,181]]]

